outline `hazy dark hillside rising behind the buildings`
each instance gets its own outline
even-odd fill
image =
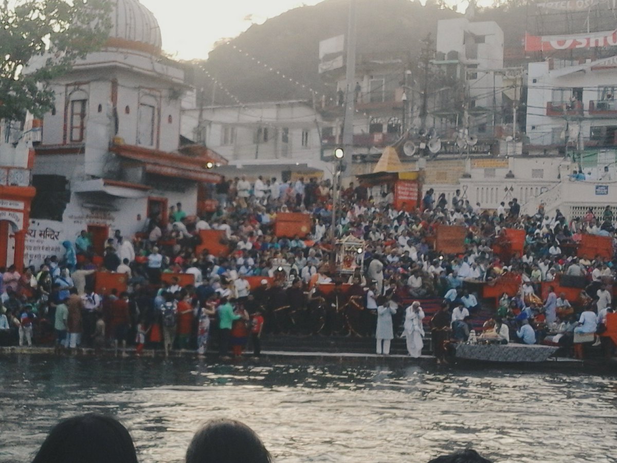
[[[317,72],[318,46],[320,40],[346,33],[348,10],[347,0],[326,0],[289,10],[262,25],[253,25],[230,43],[221,44],[200,64],[241,102],[310,99],[310,91],[295,81],[333,96],[336,89],[324,85]],[[433,37],[436,35],[437,20],[457,16],[456,12],[435,4],[358,0],[357,52],[383,52],[386,56],[388,52],[404,51],[413,62],[420,53],[420,40],[429,32]],[[257,64],[257,60],[267,64],[268,69]],[[202,78],[199,81],[196,73],[194,84],[204,87],[205,104],[234,103],[220,86],[212,88],[210,78]]]

